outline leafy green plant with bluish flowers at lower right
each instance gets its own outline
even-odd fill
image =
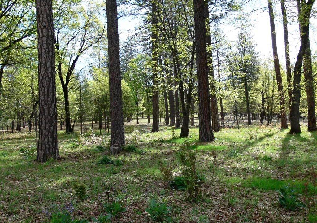
[[[280,197],[279,203],[282,207],[294,211],[297,208],[304,207],[305,205],[298,200],[299,194],[295,193],[294,188],[283,186],[279,190]]]

